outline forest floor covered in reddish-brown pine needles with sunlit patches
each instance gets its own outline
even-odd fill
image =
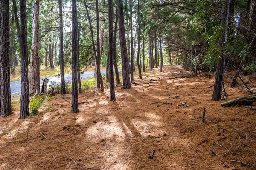
[[[165,66],[163,73],[154,68],[143,77],[149,84],[132,84],[128,90],[116,86],[114,102],[108,88],[84,91],[79,113],[70,113],[71,99],[63,98],[70,94],[52,97],[36,117],[17,119],[15,109],[0,119],[0,168],[253,169],[246,164],[256,161],[255,111],[221,107],[225,100],[211,101],[214,77],[192,75],[176,65]],[[229,87],[231,76],[225,76],[227,100],[247,95],[241,85]],[[182,78],[169,79],[173,77]],[[180,102],[189,106],[177,106]],[[154,158],[149,159],[153,149]]]

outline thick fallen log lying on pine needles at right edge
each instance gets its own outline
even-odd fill
[[[221,106],[231,107],[231,106],[251,105],[253,102],[256,102],[256,94],[249,95],[249,96],[242,96],[242,97],[221,103]]]

